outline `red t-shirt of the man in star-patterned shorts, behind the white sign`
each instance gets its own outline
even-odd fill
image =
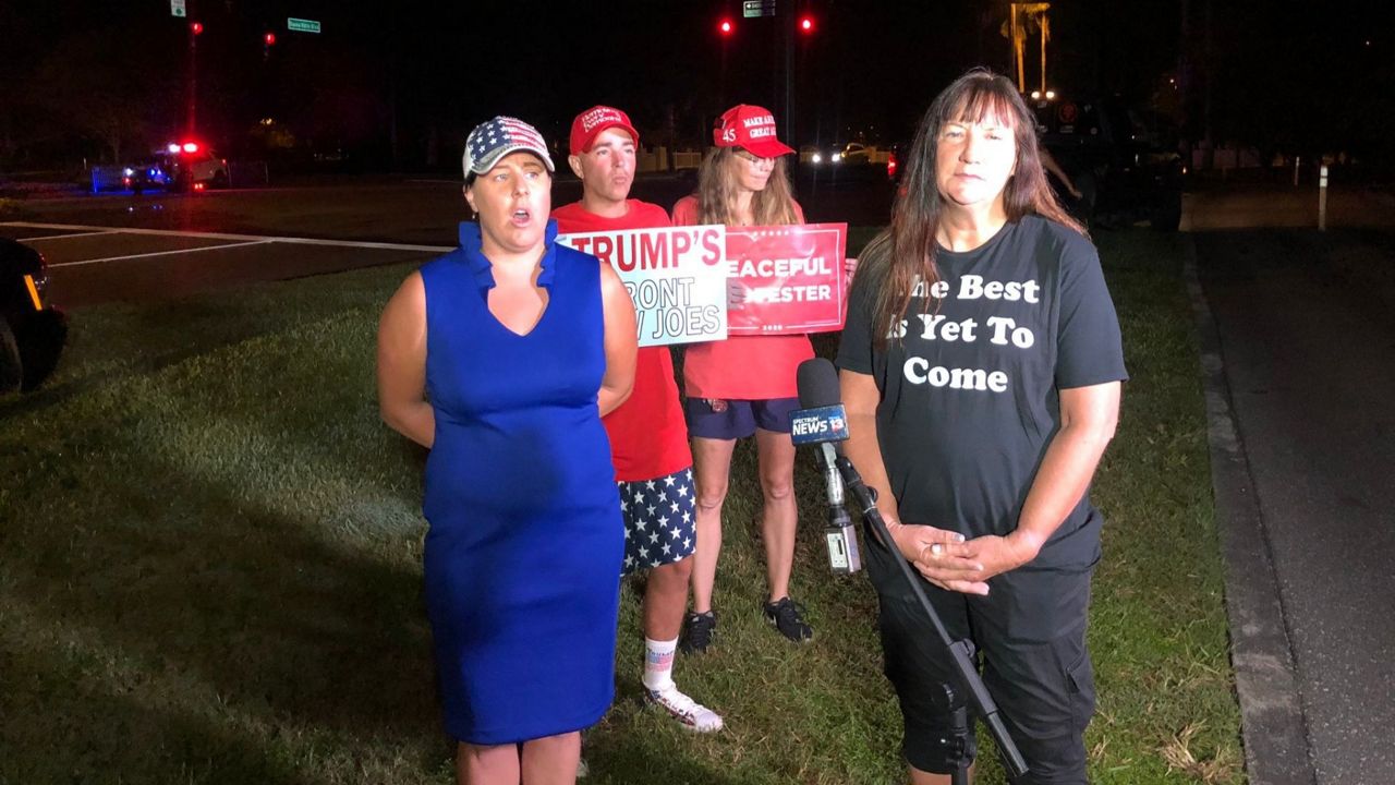
[[[625,203],[622,218],[604,218],[582,208],[582,203],[552,211],[558,232],[614,232],[668,226],[668,214],[657,204]],[[688,423],[674,381],[674,358],[668,346],[640,346],[635,358],[635,388],[615,411],[605,415],[615,479],[638,482],[671,475],[693,464],[688,448]]]

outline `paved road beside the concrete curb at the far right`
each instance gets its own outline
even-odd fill
[[[1395,210],[1382,197],[1343,194],[1335,225],[1346,228],[1285,228],[1311,223],[1307,196],[1265,189],[1189,205],[1247,464],[1237,482],[1249,486],[1253,531],[1262,538],[1249,543],[1257,559],[1232,562],[1228,592],[1243,595],[1247,581],[1262,582],[1256,564],[1272,564],[1278,636],[1269,643],[1289,651],[1246,662],[1261,665],[1261,687],[1282,686],[1265,669],[1286,655],[1296,691],[1247,693],[1242,673],[1242,704],[1247,725],[1257,726],[1283,714],[1285,701],[1297,707],[1299,749],[1251,738],[1247,728],[1253,747],[1292,758],[1260,761],[1254,782],[1388,785],[1395,782]],[[1218,487],[1218,497],[1226,490]],[[1262,603],[1256,606],[1262,616]],[[1230,608],[1237,648],[1247,636],[1264,637],[1262,619],[1237,619]]]

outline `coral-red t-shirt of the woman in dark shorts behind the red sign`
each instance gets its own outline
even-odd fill
[[[804,210],[795,214],[804,223]],[[674,205],[674,225],[698,223],[698,197]],[[808,335],[732,335],[725,341],[689,344],[684,355],[684,387],[692,398],[766,401],[799,395],[797,370],[813,356]]]

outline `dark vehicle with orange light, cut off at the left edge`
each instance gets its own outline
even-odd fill
[[[47,288],[43,254],[0,237],[0,394],[35,390],[59,365],[68,321]]]

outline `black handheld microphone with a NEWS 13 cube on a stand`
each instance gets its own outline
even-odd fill
[[[823,536],[829,545],[829,566],[834,573],[851,574],[862,568],[858,534],[844,507],[843,476],[838,472],[837,443],[848,437],[848,416],[838,402],[838,376],[833,363],[815,358],[799,363],[797,373],[799,409],[790,412],[790,439],[819,446],[819,469],[829,506],[829,524]]]

